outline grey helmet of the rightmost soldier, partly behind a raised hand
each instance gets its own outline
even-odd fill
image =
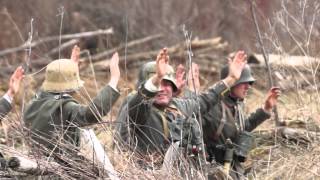
[[[220,72],[220,79],[224,79],[229,74],[229,66],[224,66]],[[251,68],[248,64],[245,65],[241,72],[240,79],[233,85],[236,86],[241,83],[250,83],[253,84],[256,81],[256,79],[252,76]]]

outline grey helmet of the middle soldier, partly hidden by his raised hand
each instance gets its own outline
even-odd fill
[[[151,78],[154,74],[156,74],[156,62],[151,61],[145,63],[139,71],[139,77],[137,82],[137,88],[146,80]],[[163,80],[170,81],[173,84],[173,90],[177,91],[177,84],[175,80],[175,73],[172,66],[169,65],[169,70],[167,74],[163,77]]]

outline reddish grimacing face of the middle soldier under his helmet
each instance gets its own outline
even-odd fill
[[[161,81],[160,91],[155,97],[155,104],[160,106],[166,106],[172,99],[172,84],[169,81]]]

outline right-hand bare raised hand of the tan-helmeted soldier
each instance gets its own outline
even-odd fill
[[[111,78],[110,78],[109,85],[115,88],[115,87],[117,87],[119,79],[120,79],[118,52],[115,52],[112,55],[112,58],[110,60],[110,73],[111,73]]]

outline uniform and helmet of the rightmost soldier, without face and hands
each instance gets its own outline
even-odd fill
[[[224,67],[221,79],[224,79],[227,74],[227,67]],[[255,79],[251,76],[249,66],[246,66],[236,84],[243,82],[253,83],[254,81]],[[208,153],[208,160],[214,160],[216,163],[223,165],[226,140],[230,139],[235,146],[239,147],[237,144],[239,137],[242,134],[250,135],[252,130],[270,118],[271,115],[262,108],[258,108],[254,113],[246,117],[243,100],[231,97],[229,88],[222,81],[216,83],[212,90],[217,93],[212,94],[215,97],[208,104],[208,112],[202,114],[203,139]],[[230,171],[230,175],[234,179],[242,179],[243,177],[244,169],[241,166],[241,161],[243,161],[243,158],[234,153]]]

